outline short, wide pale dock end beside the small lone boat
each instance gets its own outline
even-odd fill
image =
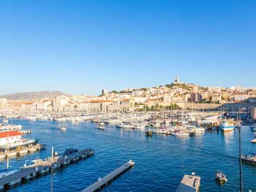
[[[178,185],[176,192],[198,192],[201,177],[192,175],[184,175],[181,183]]]

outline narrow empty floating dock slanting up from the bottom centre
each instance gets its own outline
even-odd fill
[[[107,186],[110,184],[114,178],[117,178],[120,174],[124,173],[124,171],[127,171],[128,169],[131,169],[132,166],[134,166],[134,162],[132,160],[128,161],[126,164],[120,166],[116,170],[112,171],[107,176],[104,176],[103,178],[99,178],[98,181],[93,183],[92,185],[88,186],[82,192],[92,192],[92,191],[100,191],[101,188]]]

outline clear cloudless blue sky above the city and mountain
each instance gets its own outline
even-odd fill
[[[0,95],[256,87],[256,1],[0,1]]]

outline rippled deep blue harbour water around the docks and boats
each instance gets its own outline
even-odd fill
[[[105,130],[97,129],[91,122],[28,121],[13,119],[23,129],[31,129],[26,137],[38,138],[47,148],[35,154],[11,159],[12,169],[21,167],[26,159],[42,159],[50,156],[51,146],[59,154],[73,146],[78,149],[95,149],[95,155],[72,164],[53,176],[53,191],[82,191],[97,181],[97,178],[132,159],[134,168],[119,176],[102,191],[175,191],[184,174],[196,172],[201,176],[200,191],[239,191],[239,149],[238,130],[234,132],[206,132],[205,134],[178,138],[153,135],[146,137],[144,131],[118,129],[106,125]],[[64,125],[66,132],[58,127]],[[242,127],[242,153],[253,148],[250,140],[253,133],[249,127]],[[255,144],[256,145],[256,144]],[[6,162],[1,162],[4,168]],[[221,170],[228,182],[219,186],[215,173]],[[256,191],[256,166],[242,165],[245,191]],[[29,181],[10,191],[50,191],[50,175]]]

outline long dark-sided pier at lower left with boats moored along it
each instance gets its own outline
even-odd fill
[[[95,153],[93,149],[85,149],[74,152],[73,154],[67,154],[65,156],[54,157],[53,169],[59,169],[63,166],[68,166],[73,161],[79,161],[92,156]],[[45,174],[50,174],[51,162],[45,162],[38,166],[32,166],[16,171],[14,174],[10,174],[0,178],[0,191],[4,191],[9,188],[14,188],[18,185],[26,183]]]

